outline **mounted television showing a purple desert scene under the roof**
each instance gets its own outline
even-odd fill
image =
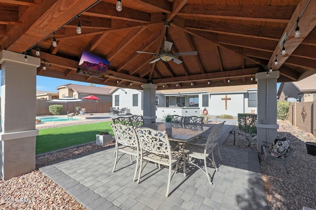
[[[76,73],[103,79],[109,64],[110,61],[83,51]]]

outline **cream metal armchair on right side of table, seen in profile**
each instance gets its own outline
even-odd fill
[[[185,153],[188,157],[188,162],[197,166],[197,168],[202,170],[202,172],[206,175],[208,182],[211,185],[213,183],[210,180],[211,175],[209,175],[207,171],[206,158],[209,159],[213,163],[215,170],[218,171],[218,168],[214,160],[214,155],[213,155],[214,144],[218,138],[218,130],[219,130],[219,126],[216,126],[211,130],[204,147],[193,145],[193,144],[187,144],[185,147]],[[208,157],[210,154],[212,155],[212,159]],[[204,170],[195,163],[195,159],[200,159],[204,161],[204,168],[205,168]]]

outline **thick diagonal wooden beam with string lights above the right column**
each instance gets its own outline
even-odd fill
[[[308,5],[307,5],[308,3]],[[307,6],[306,6],[307,5]],[[306,8],[305,8],[306,7]],[[303,12],[305,8],[305,11]],[[287,34],[288,38],[285,41],[285,48],[286,48],[286,54],[281,55],[280,53],[277,55],[277,53],[280,51],[279,45],[276,45],[276,49],[274,50],[274,53],[272,54],[272,57],[270,58],[268,62],[268,67],[273,65],[274,70],[278,70],[280,66],[283,65],[284,62],[291,56],[291,54],[295,51],[295,49],[302,43],[304,38],[316,27],[316,1],[315,0],[301,0],[299,4],[297,5],[287,27],[283,31],[283,34]],[[301,13],[303,14],[301,15]],[[295,27],[296,27],[296,21],[297,18],[300,17],[300,20],[298,22],[298,26],[300,27],[301,36],[300,37],[294,37],[295,34]],[[293,30],[292,30],[293,29]],[[292,30],[292,31],[291,31]],[[283,36],[283,35],[282,35]],[[282,37],[280,36],[280,38]],[[277,56],[276,56],[277,55]],[[277,58],[277,65],[274,65],[274,61]]]

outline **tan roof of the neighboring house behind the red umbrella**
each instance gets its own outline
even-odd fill
[[[98,95],[111,95],[110,91],[116,87],[105,86],[105,87],[93,87],[85,85],[75,85],[75,84],[66,84],[57,87],[57,90],[62,88],[72,89],[78,93],[87,93],[87,94],[98,94]]]

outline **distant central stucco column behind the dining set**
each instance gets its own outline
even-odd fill
[[[144,110],[143,118],[145,124],[156,122],[156,89],[157,85],[149,83],[143,84],[144,89]]]

